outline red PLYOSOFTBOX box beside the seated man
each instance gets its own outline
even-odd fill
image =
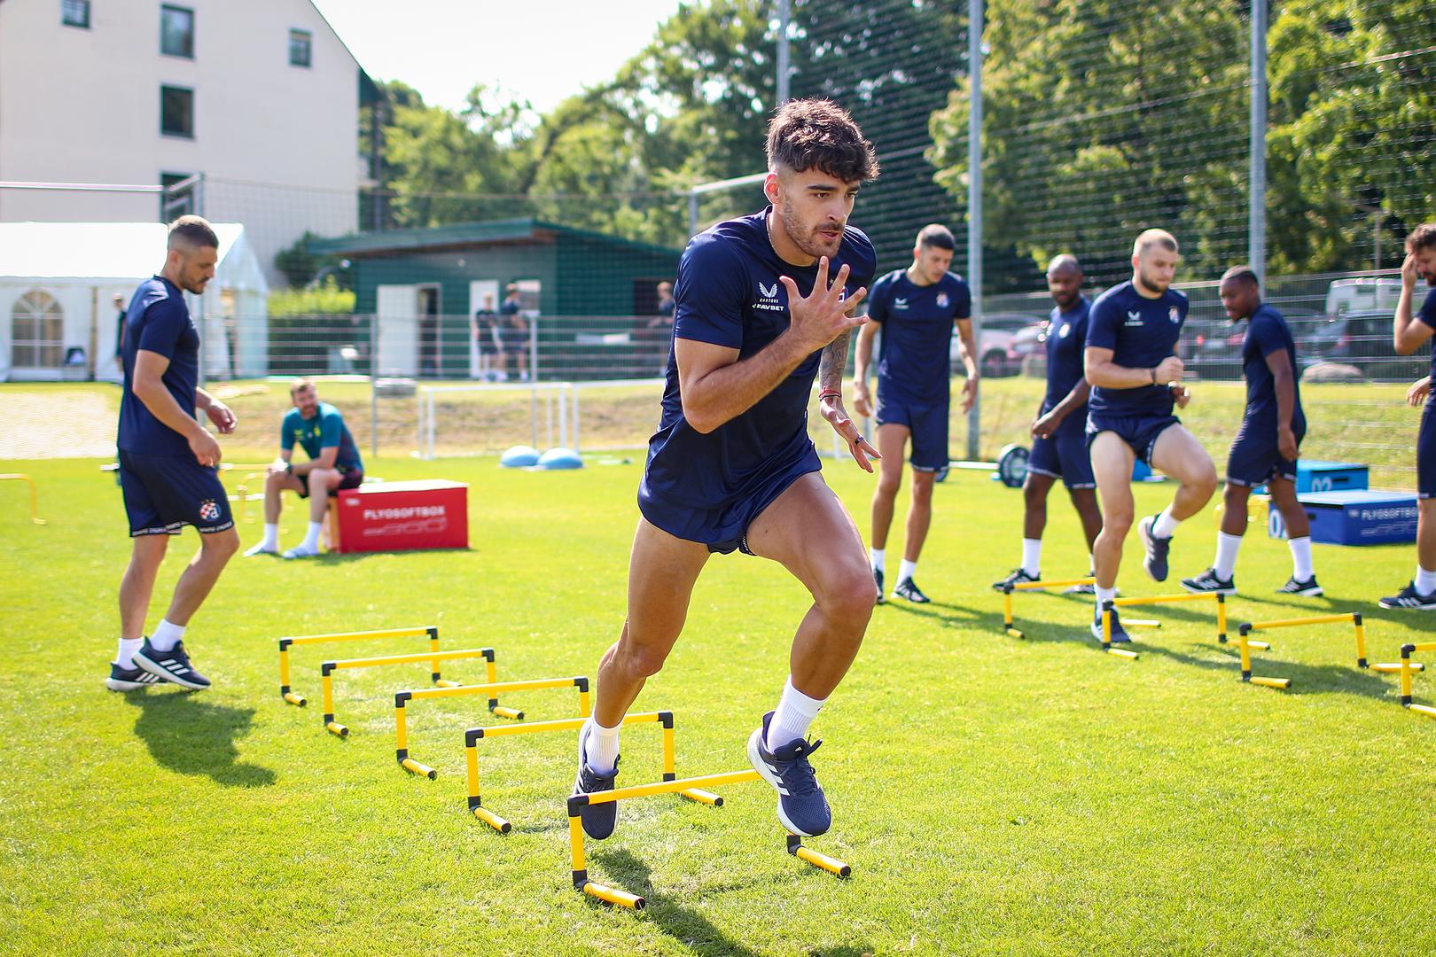
[[[335,551],[468,548],[468,485],[373,482],[339,492]]]

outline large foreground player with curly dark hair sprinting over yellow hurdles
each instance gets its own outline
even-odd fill
[[[804,736],[857,654],[873,580],[853,519],[819,472],[807,405],[817,374],[823,418],[872,472],[877,452],[847,418],[841,383],[876,268],[847,218],[877,161],[847,112],[823,99],[784,103],[767,155],[773,205],[694,237],[678,267],[673,362],[638,489],[628,620],[599,663],[574,791],[613,788],[623,715],[678,640],[708,557],[738,550],[780,562],[813,594],[748,759],[777,789],[783,826],[817,835],[831,814],[808,763],[819,743]],[[616,814],[612,802],[584,808],[584,832],[609,836]]]

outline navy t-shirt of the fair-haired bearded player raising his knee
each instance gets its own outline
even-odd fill
[[[1167,288],[1147,298],[1132,280],[1097,297],[1087,317],[1087,346],[1110,349],[1111,362],[1127,369],[1152,369],[1176,354],[1186,321],[1186,296]],[[1167,416],[1172,392],[1165,382],[1136,389],[1093,386],[1087,409],[1093,416]]]

